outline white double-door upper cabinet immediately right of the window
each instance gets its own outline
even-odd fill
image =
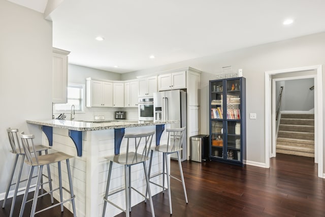
[[[113,82],[87,78],[86,106],[113,107]]]

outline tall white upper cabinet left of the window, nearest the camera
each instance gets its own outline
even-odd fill
[[[67,103],[69,51],[53,48],[52,102]]]

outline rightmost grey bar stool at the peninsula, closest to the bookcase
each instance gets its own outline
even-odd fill
[[[185,182],[184,182],[183,169],[182,169],[181,159],[179,156],[179,152],[182,150],[182,141],[183,141],[185,129],[186,129],[186,127],[178,128],[178,129],[167,129],[166,130],[166,132],[168,132],[167,145],[155,146],[154,149],[151,149],[151,153],[150,153],[149,172],[148,172],[149,180],[150,180],[150,178],[153,178],[153,177],[156,177],[159,175],[163,175],[163,185],[157,184],[152,181],[149,181],[149,182],[157,185],[158,187],[163,188],[163,193],[164,193],[164,191],[166,189],[165,188],[165,174],[167,175],[168,200],[169,200],[169,209],[170,209],[171,214],[172,214],[172,199],[171,199],[170,177],[182,182],[184,196],[185,196],[185,202],[188,203]],[[163,172],[151,176],[150,172],[151,172],[153,150],[163,153]],[[168,154],[171,154],[171,153],[177,153],[177,161],[178,161],[178,167],[179,167],[181,180],[170,174]],[[166,164],[166,173],[165,173],[165,164]]]

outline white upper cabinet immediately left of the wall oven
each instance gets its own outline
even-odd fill
[[[139,81],[124,83],[124,107],[138,107]]]

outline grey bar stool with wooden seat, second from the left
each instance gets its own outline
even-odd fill
[[[71,201],[72,202],[73,215],[74,215],[74,217],[76,217],[76,205],[75,205],[75,197],[76,196],[73,193],[71,170],[70,170],[70,161],[69,161],[69,159],[73,158],[73,156],[70,156],[70,155],[68,155],[66,153],[63,153],[63,152],[55,152],[55,153],[49,153],[49,154],[42,155],[42,156],[37,156],[35,145],[34,145],[35,136],[34,135],[25,135],[24,132],[21,132],[20,133],[20,138],[21,138],[22,147],[24,149],[25,156],[26,156],[25,163],[30,165],[31,167],[30,167],[30,172],[29,172],[29,176],[28,176],[28,180],[27,180],[25,195],[24,195],[22,205],[21,205],[21,208],[20,208],[19,217],[23,216],[23,212],[24,212],[24,209],[25,209],[25,204],[26,204],[26,202],[28,202],[26,200],[27,200],[28,190],[29,190],[29,187],[30,187],[30,181],[31,181],[31,178],[32,178],[32,173],[33,173],[35,167],[38,167],[39,170],[38,170],[35,194],[34,194],[34,198],[32,199],[32,206],[31,206],[30,216],[34,217],[35,214],[37,214],[39,212],[42,212],[44,210],[47,210],[49,208],[52,208],[54,206],[58,206],[58,205],[61,206],[61,212],[63,212],[63,203]],[[30,150],[34,150],[34,151],[31,152]],[[64,160],[66,160],[66,162],[67,162],[67,171],[68,171],[70,191],[68,191],[67,189],[62,187],[61,161],[64,161]],[[52,164],[52,163],[57,163],[58,178],[59,178],[59,188],[54,189],[54,190],[52,190],[50,192],[54,192],[56,190],[59,190],[60,202],[36,212],[36,204],[37,204],[38,198],[45,195],[45,194],[39,195],[41,177],[42,177],[42,173],[43,173],[43,166],[44,165],[48,166],[49,164]],[[62,190],[67,191],[68,193],[70,193],[71,198],[63,201]]]

